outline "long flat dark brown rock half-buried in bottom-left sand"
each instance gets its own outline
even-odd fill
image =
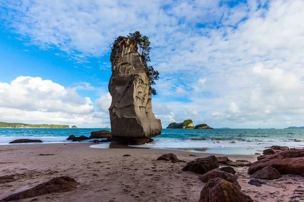
[[[39,184],[31,189],[20,191],[18,193],[11,194],[0,201],[11,201],[22,198],[30,198],[47,193],[67,192],[77,189],[80,183],[68,176],[61,176],[53,178],[47,182]]]

